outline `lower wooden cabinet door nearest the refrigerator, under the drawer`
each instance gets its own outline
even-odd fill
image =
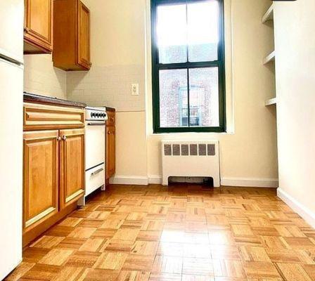
[[[58,133],[30,131],[23,134],[25,230],[30,230],[58,212]]]

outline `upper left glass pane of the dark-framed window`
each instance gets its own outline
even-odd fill
[[[186,4],[158,6],[157,33],[160,63],[186,63]]]

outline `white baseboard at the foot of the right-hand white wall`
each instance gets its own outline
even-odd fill
[[[277,189],[278,197],[285,202],[293,211],[299,214],[302,218],[304,218],[311,227],[315,228],[315,214],[309,210],[307,207],[304,207],[300,202],[295,200],[291,195],[288,195],[283,189]]]

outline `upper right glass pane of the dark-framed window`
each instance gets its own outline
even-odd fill
[[[190,62],[218,59],[219,4],[205,1],[188,4],[188,60]]]

